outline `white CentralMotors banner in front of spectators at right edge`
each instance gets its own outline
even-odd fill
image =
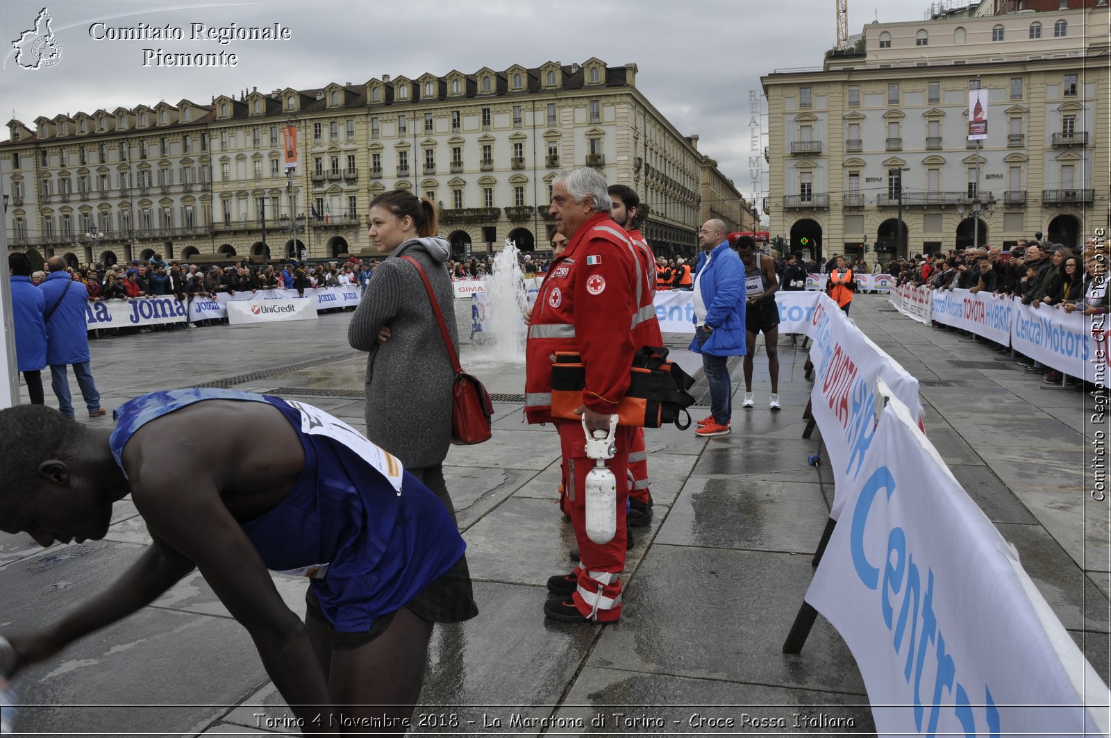
[[[1093,336],[1090,321],[1079,312],[1052,306],[1032,308],[1012,298],[1011,346],[1047,367],[1090,382],[1108,377],[1107,338]],[[1102,346],[1101,346],[1102,345]]]

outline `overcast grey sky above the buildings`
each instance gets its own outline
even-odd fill
[[[849,32],[877,16],[922,18],[925,0],[850,0]],[[390,74],[417,78],[452,69],[471,73],[513,63],[538,67],[598,57],[610,66],[634,62],[637,87],[699,149],[720,162],[742,195],[755,193],[750,153],[749,91],[773,69],[817,67],[834,44],[834,0],[534,0],[254,3],[50,2],[52,31],[62,46],[53,67],[20,69],[11,42],[34,26],[39,3],[6,0],[0,64],[0,117],[32,126],[39,116],[112,110],[182,98],[207,104],[243,88],[308,89],[363,83]],[[93,40],[90,26],[171,24],[183,40]],[[191,41],[190,24],[272,26],[288,41]],[[236,67],[143,66],[143,49],[168,53],[230,52]],[[761,108],[767,113],[767,106]],[[761,118],[767,132],[767,117]],[[2,132],[7,138],[7,131]],[[761,143],[761,150],[767,139]],[[767,184],[767,172],[760,189]]]

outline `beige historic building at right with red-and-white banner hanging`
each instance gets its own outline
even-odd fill
[[[762,78],[774,235],[885,259],[1037,231],[1074,246],[1108,226],[1105,9],[991,8],[871,23],[822,69]],[[972,88],[987,92],[979,147]]]

